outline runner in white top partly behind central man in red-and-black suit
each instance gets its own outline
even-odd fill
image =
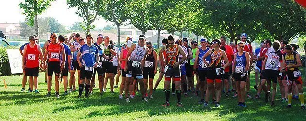
[[[185,52],[185,55],[188,54],[187,52],[187,48],[185,46],[183,46],[183,41],[181,39],[175,41],[175,44],[180,45],[183,49],[183,51]],[[188,57],[188,55],[187,55]],[[179,55],[179,61],[182,60],[183,56]],[[185,61],[183,61],[183,63],[180,64],[180,68],[181,68],[181,88],[183,88],[183,93],[184,96],[187,97],[187,82],[186,82],[186,67],[185,67],[185,63],[186,61],[188,61],[187,59]],[[172,93],[174,93],[174,89],[175,89],[175,84],[172,83]]]

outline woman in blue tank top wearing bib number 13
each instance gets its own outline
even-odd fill
[[[244,42],[239,42],[238,43],[238,52],[235,53],[234,55],[234,60],[233,61],[233,75],[235,78],[235,84],[237,87],[237,92],[238,92],[238,105],[237,106],[242,106],[246,107],[245,104],[245,85],[246,85],[246,78],[248,75],[248,70],[250,67],[250,55],[249,52],[245,52],[244,50]]]

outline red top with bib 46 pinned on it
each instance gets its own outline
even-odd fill
[[[47,45],[47,50],[48,50],[48,55],[49,55],[49,60],[48,62],[60,62],[60,52],[63,48],[63,45],[59,42],[54,43],[49,43]]]

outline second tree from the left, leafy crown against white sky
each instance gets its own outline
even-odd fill
[[[86,34],[95,28],[94,25],[91,25],[97,18],[97,15],[101,8],[102,0],[67,0],[68,8],[76,7],[77,11],[75,12],[79,17],[83,18],[84,21],[81,24],[83,30],[86,31]]]

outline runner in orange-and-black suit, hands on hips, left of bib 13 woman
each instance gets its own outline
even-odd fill
[[[203,61],[206,65],[209,65],[209,70],[207,72],[207,91],[206,91],[206,97],[205,97],[205,103],[204,106],[208,106],[208,100],[210,93],[213,95],[215,94],[213,89],[216,90],[217,93],[217,99],[215,107],[220,107],[220,98],[221,98],[221,87],[222,87],[222,74],[224,74],[224,69],[230,65],[226,54],[223,50],[219,49],[221,45],[221,41],[219,39],[214,39],[212,42],[213,49],[208,50],[204,57]],[[208,63],[205,59],[210,56],[211,62]],[[221,60],[224,59],[226,64],[222,67],[221,66]],[[215,86],[214,86],[215,84]]]

